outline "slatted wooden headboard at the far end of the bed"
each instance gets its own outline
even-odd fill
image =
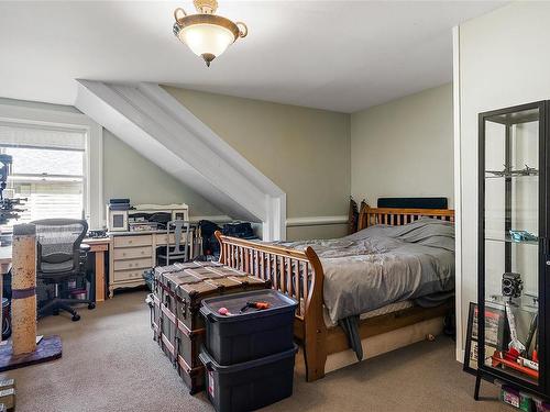
[[[454,222],[452,209],[405,209],[405,208],[371,208],[365,204],[359,212],[358,231],[375,224],[399,226],[414,222],[422,216]]]

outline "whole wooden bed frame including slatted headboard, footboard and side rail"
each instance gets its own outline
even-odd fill
[[[374,224],[403,225],[421,216],[454,222],[454,211],[447,209],[394,209],[364,207],[359,215],[359,230]],[[244,270],[262,279],[271,279],[272,287],[300,304],[296,311],[294,333],[304,346],[306,379],[314,381],[324,376],[327,356],[349,349],[348,337],[340,326],[327,327],[323,319],[323,271],[319,257],[311,247],[296,250],[224,236],[216,232],[220,242],[220,263]],[[309,274],[309,277],[308,277]],[[360,335],[364,339],[415,323],[446,315],[453,303],[424,309],[413,307],[362,320]]]

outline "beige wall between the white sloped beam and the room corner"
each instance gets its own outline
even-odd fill
[[[287,194],[288,218],[344,215],[350,115],[166,87]],[[341,235],[343,225],[293,227],[288,237]]]

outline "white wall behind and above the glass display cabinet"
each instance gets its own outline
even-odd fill
[[[550,3],[515,2],[459,27],[462,336],[477,293],[477,113],[550,99],[549,22]]]

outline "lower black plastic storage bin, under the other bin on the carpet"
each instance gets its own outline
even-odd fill
[[[253,411],[293,394],[298,346],[260,359],[221,366],[204,348],[208,399],[218,412]]]

